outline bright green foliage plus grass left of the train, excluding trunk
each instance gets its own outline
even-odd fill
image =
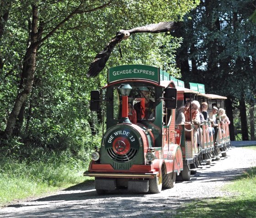
[[[90,62],[118,30],[181,20],[198,3],[12,0],[0,38],[0,187],[7,187],[6,192],[0,192],[2,202],[6,193],[20,198],[15,193],[21,187],[31,195],[39,186],[46,190],[83,180],[81,173],[88,167],[89,154],[101,143],[102,121],[96,122],[97,115],[89,111],[90,91],[106,85],[107,67],[120,64],[160,66],[179,76],[174,54],[181,39],[169,33],[133,35],[121,43],[123,59],[114,50],[106,69],[92,79],[86,77]],[[33,89],[25,101],[24,119],[19,120],[21,131],[3,139],[17,93],[22,91],[21,73],[27,73],[22,70],[26,68],[24,57],[30,46],[35,7],[39,46]],[[92,126],[99,134],[92,135]]]

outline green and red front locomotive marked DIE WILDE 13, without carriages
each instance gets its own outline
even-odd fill
[[[107,130],[84,172],[95,177],[97,193],[160,193],[183,169],[175,138],[176,88],[161,73],[154,66],[116,66],[108,71],[105,99],[91,92],[91,110],[99,109],[99,101],[107,107]]]

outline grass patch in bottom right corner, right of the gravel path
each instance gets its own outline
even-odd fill
[[[247,147],[256,149],[256,147]],[[175,218],[255,218],[256,167],[224,186],[232,197],[207,198],[186,204],[177,210]]]

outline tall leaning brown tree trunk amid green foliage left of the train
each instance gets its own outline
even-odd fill
[[[21,112],[21,108],[25,103],[27,97],[32,91],[34,82],[34,73],[36,71],[36,55],[37,55],[37,6],[32,5],[32,32],[31,32],[31,43],[27,49],[26,55],[23,61],[23,69],[21,74],[21,84],[19,93],[16,97],[14,107],[9,116],[4,137],[8,138],[13,134],[14,128],[16,126],[17,117]],[[22,116],[22,115],[20,115]],[[23,118],[22,118],[23,119]]]

